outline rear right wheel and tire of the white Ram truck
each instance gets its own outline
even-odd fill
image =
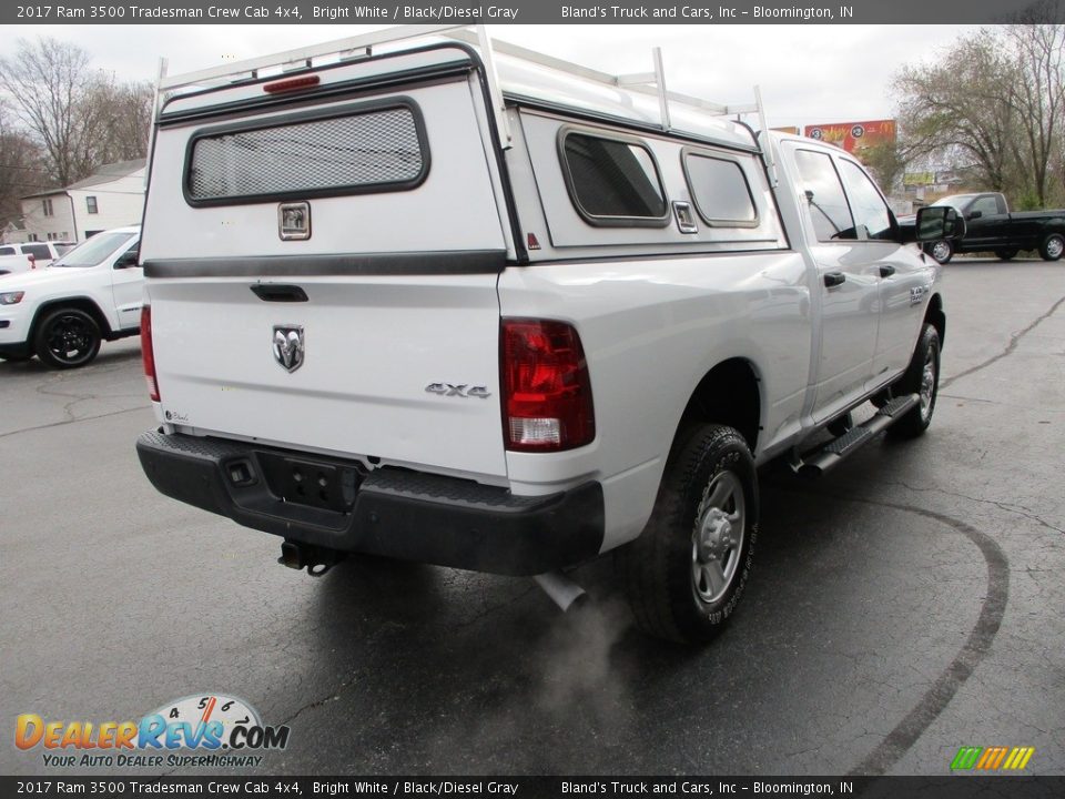
[[[701,425],[680,438],[650,522],[617,554],[637,626],[686,644],[713,638],[743,594],[758,517],[758,475],[743,436]]]

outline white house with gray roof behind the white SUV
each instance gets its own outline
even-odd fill
[[[139,224],[144,212],[144,159],[105,164],[84,180],[22,198],[29,241],[73,241]]]

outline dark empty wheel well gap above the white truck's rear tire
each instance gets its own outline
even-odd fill
[[[674,444],[697,424],[734,427],[751,452],[758,446],[762,421],[761,378],[754,365],[742,357],[722,361],[703,375],[691,393],[673,434]]]

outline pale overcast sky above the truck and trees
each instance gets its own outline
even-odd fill
[[[84,48],[97,67],[123,79],[154,79],[225,59],[264,55],[372,30],[373,26],[19,26],[0,38],[50,36]],[[496,26],[493,37],[606,72],[652,69],[662,48],[670,89],[746,103],[762,88],[770,125],[855,122],[894,115],[892,75],[930,61],[973,26]]]

